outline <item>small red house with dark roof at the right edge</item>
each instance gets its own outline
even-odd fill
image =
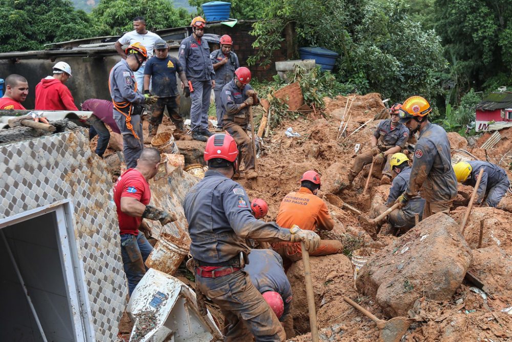
[[[497,126],[496,123],[505,125]],[[489,127],[489,125],[497,127]],[[476,106],[475,129],[477,132],[510,126],[512,126],[512,92],[490,93]]]

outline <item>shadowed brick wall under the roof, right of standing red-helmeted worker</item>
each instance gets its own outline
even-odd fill
[[[283,44],[280,50],[274,51],[271,58],[272,63],[269,66],[261,67],[256,64],[249,67],[247,65],[247,58],[256,53],[256,50],[252,47],[252,43],[256,40],[256,37],[249,34],[249,31],[252,29],[252,24],[253,21],[242,21],[233,27],[222,24],[212,24],[208,25],[206,33],[218,35],[229,34],[231,39],[233,39],[233,51],[238,55],[240,66],[248,67],[252,77],[258,79],[272,79],[272,76],[277,74],[274,62],[286,60],[286,47]]]

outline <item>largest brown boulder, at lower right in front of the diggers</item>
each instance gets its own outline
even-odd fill
[[[450,216],[430,216],[361,268],[356,287],[390,317],[407,316],[417,299],[448,300],[460,286],[472,253]]]

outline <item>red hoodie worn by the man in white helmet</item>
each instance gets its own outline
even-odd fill
[[[48,76],[35,86],[35,110],[78,110],[68,87]]]

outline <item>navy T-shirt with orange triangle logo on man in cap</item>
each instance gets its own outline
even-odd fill
[[[158,58],[153,56],[146,62],[144,75],[150,75],[152,81],[151,92],[160,97],[178,95],[176,73],[183,72],[178,58],[167,56]]]

